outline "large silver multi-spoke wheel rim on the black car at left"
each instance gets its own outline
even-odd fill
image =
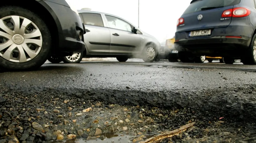
[[[42,34],[35,23],[22,16],[0,19],[0,56],[11,62],[27,62],[42,48]]]

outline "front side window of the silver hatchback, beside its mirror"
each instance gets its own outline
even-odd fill
[[[126,21],[123,21],[120,18],[109,16],[109,15],[106,15],[106,18],[110,28],[132,32],[131,25]]]

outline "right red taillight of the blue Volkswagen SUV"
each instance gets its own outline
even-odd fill
[[[251,11],[245,7],[236,7],[233,9],[225,10],[221,17],[245,17],[249,16]]]

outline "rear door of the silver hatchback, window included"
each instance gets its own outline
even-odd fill
[[[104,24],[101,13],[81,13],[85,24],[84,41],[89,53],[108,54],[110,49],[110,31]]]

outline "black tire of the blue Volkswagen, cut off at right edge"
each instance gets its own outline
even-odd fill
[[[247,49],[245,49],[244,54],[241,56],[241,60],[244,65],[256,65],[256,61],[253,55],[254,41],[256,39],[256,34],[254,34],[252,41]]]

